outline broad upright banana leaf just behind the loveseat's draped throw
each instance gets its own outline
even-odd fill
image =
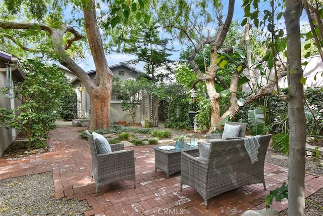
[[[252,136],[261,135],[263,133],[263,113],[259,107],[248,111],[248,124]]]

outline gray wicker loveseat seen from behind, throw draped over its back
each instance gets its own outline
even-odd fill
[[[258,161],[251,163],[244,139],[212,141],[206,162],[182,152],[181,191],[183,184],[191,186],[207,200],[242,186],[263,183],[264,158],[272,135],[260,136]]]

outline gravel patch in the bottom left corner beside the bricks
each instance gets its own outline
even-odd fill
[[[86,200],[55,199],[52,173],[0,181],[0,215],[84,215]]]

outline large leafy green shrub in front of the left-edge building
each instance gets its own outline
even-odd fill
[[[47,139],[51,129],[56,127],[55,121],[60,119],[57,112],[60,99],[68,88],[68,80],[63,71],[56,66],[48,66],[36,60],[22,61],[26,79],[17,82],[15,88],[0,88],[6,100],[20,100],[21,104],[15,109],[4,111],[0,109],[5,119],[0,124],[5,127],[21,129],[28,135],[27,149],[37,139]],[[22,100],[21,98],[24,98]]]

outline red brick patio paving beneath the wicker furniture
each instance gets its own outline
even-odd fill
[[[92,210],[85,215],[241,215],[247,209],[265,207],[264,197],[287,181],[287,169],[265,164],[265,182],[233,190],[208,201],[204,210],[202,198],[192,188],[180,191],[180,173],[171,175],[154,171],[152,146],[129,147],[136,157],[137,188],[132,181],[113,183],[99,189],[91,182],[91,155],[86,139],[79,136],[82,127],[61,127],[50,137],[52,152],[24,158],[0,159],[0,180],[52,171],[57,199],[86,199]],[[323,177],[306,174],[305,195],[323,188]],[[273,208],[282,211],[287,201],[274,202]]]

